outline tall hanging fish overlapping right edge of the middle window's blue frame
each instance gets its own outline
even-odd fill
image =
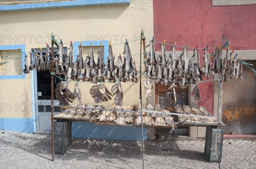
[[[116,80],[116,65],[115,65],[115,56],[113,55],[112,46],[108,47],[108,59],[107,59],[107,70],[105,73],[105,78],[108,79],[109,82],[115,82]]]

